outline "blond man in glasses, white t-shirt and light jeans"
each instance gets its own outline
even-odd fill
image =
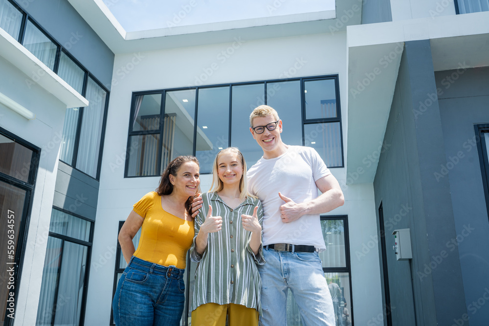
[[[247,173],[248,191],[264,209],[260,325],[287,325],[290,289],[304,325],[334,326],[333,302],[318,256],[326,248],[319,215],[343,205],[343,192],[314,149],[282,142],[282,120],[271,107],[253,110],[250,131],[263,150]]]

